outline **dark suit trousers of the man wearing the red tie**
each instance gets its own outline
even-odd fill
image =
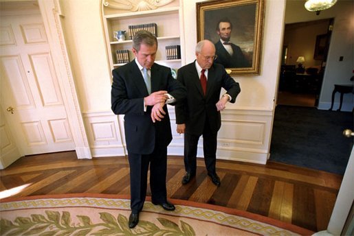
[[[204,123],[203,128],[203,152],[204,162],[206,163],[206,169],[208,174],[216,173],[217,163],[217,132],[210,130],[208,119]],[[184,167],[186,172],[194,175],[197,171],[197,148],[198,141],[201,135],[190,134],[186,132],[184,134]]]

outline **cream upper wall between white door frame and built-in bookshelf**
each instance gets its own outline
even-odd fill
[[[107,62],[99,0],[60,0],[64,33],[83,113],[110,110]]]

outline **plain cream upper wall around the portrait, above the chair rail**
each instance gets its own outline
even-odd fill
[[[195,16],[196,2],[184,1],[184,21],[188,25],[185,34],[186,61],[195,60],[195,44],[197,43],[197,20]],[[274,94],[278,78],[278,60],[283,40],[283,8],[284,1],[272,0],[265,3],[265,21],[261,58],[261,75],[237,76],[241,84],[241,94],[236,104],[228,104],[230,108],[245,110],[273,110]]]

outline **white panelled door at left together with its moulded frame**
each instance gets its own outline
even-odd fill
[[[0,4],[0,168],[36,153],[76,150],[78,158],[91,158],[67,50],[61,47],[58,5]]]

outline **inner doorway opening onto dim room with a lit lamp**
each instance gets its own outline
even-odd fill
[[[318,106],[333,21],[285,25],[277,104]]]

